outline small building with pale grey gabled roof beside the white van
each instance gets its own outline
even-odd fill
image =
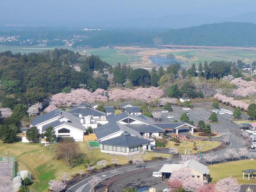
[[[162,173],[162,181],[171,175],[174,170],[188,168],[192,172],[193,178],[198,178],[200,181],[208,183],[210,170],[207,166],[190,159],[183,164],[164,164],[159,172]]]

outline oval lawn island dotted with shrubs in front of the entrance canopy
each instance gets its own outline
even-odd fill
[[[184,154],[185,149],[187,154],[195,154],[198,153],[198,150],[193,150],[193,142],[191,141],[181,141],[179,146],[175,146],[173,141],[168,141],[166,148],[176,148],[178,152]],[[196,146],[200,147],[202,151],[208,151],[220,146],[220,142],[218,141],[196,141]],[[189,152],[191,151],[191,152]]]

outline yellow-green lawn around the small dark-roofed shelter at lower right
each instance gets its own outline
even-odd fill
[[[256,183],[256,173],[254,173],[254,178],[248,180],[247,173],[245,173],[245,178],[243,179],[242,170],[245,169],[255,169],[256,160],[241,160],[228,163],[220,163],[209,165],[212,182],[217,182],[221,178],[226,178],[232,176],[237,178],[240,184],[255,184]]]

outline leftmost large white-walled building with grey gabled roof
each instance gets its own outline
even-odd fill
[[[37,127],[39,134],[43,134],[51,126],[57,137],[70,137],[74,141],[83,141],[86,133],[86,128],[82,125],[80,118],[59,109],[35,117],[30,127],[33,126]],[[24,133],[22,142],[29,142],[25,137],[26,129],[22,131]],[[45,143],[44,138],[39,138],[39,142]]]

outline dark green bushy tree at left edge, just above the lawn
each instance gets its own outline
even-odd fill
[[[14,143],[18,140],[17,127],[15,125],[0,125],[0,139],[4,143]]]

